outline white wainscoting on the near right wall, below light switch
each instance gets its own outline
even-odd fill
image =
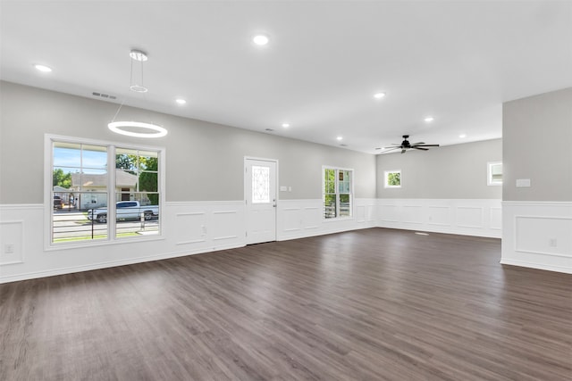
[[[503,202],[501,263],[572,274],[572,203]]]

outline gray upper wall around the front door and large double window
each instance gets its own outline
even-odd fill
[[[346,149],[123,107],[121,116],[154,121],[166,137],[123,137],[107,128],[118,105],[0,82],[0,203],[43,203],[44,134],[166,148],[166,200],[243,199],[244,156],[279,161],[282,199],[322,197],[322,165],[355,170],[355,195],[375,197],[375,157]]]

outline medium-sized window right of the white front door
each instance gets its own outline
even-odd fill
[[[324,167],[324,219],[351,217],[353,170]]]

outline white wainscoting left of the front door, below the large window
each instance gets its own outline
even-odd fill
[[[0,283],[156,261],[244,246],[244,202],[165,203],[162,236],[145,240],[98,241],[88,246],[44,247],[42,204],[0,205],[2,235],[18,235],[14,255],[2,256]],[[16,225],[14,225],[16,222]],[[9,227],[8,229],[4,229]],[[0,235],[0,236],[2,236]],[[6,242],[12,244],[12,237]],[[3,237],[4,242],[4,237]],[[23,244],[25,243],[25,245]]]

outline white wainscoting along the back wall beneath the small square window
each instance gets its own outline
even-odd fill
[[[501,238],[501,200],[378,199],[377,226]]]

